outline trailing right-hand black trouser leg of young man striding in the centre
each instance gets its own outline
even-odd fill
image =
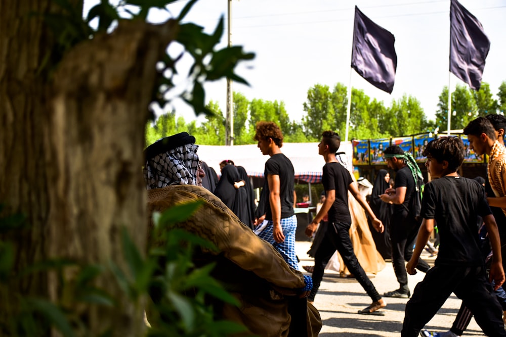
[[[376,291],[369,277],[367,277],[364,268],[362,268],[353,252],[353,244],[351,243],[349,234],[350,224],[330,223],[329,225],[335,226],[337,230],[337,235],[330,237],[330,240],[335,240],[332,244],[337,248],[339,254],[341,254],[344,264],[348,267],[350,273],[355,276],[360,285],[362,285],[367,295],[372,299],[372,302],[379,301],[381,296]],[[332,227],[329,227],[329,230],[332,230]]]

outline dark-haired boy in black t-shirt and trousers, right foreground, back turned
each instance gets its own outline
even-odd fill
[[[477,181],[462,178],[456,173],[462,164],[464,151],[462,140],[458,137],[432,140],[424,151],[429,173],[439,179],[425,186],[421,210],[423,222],[413,256],[406,266],[407,272],[411,275],[416,273],[415,266],[435,222],[441,244],[435,266],[416,285],[412,298],[406,304],[402,337],[416,337],[452,292],[471,310],[486,335],[506,336],[502,308],[491,294],[491,286],[487,282],[476,218],[478,215],[483,217],[489,234],[493,251],[489,280],[495,281],[495,288],[504,282],[497,225],[483,187]]]

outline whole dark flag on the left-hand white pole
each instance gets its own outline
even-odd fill
[[[351,66],[369,83],[388,93],[394,88],[397,54],[395,38],[355,6]]]

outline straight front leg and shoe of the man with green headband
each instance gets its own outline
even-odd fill
[[[390,226],[392,228],[390,232],[390,237],[392,239],[392,265],[394,266],[397,282],[399,282],[399,290],[397,293],[409,296],[408,276],[404,262],[404,248],[406,246],[407,233],[405,223],[403,223],[403,217],[394,215]],[[396,293],[396,291],[385,293],[384,296],[389,296],[391,293]]]

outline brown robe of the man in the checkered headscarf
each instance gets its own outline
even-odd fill
[[[202,250],[196,264],[216,262],[213,276],[241,303],[240,308],[220,303],[221,318],[242,323],[260,336],[287,336],[291,317],[285,295],[297,295],[296,290],[305,286],[303,274],[291,269],[272,245],[241,224],[207,189],[173,185],[148,190],[150,214],[196,200],[203,205],[178,226],[219,249],[219,253]],[[148,242],[156,245],[153,238]],[[309,303],[307,316],[307,335],[317,336],[322,323],[318,311]]]

